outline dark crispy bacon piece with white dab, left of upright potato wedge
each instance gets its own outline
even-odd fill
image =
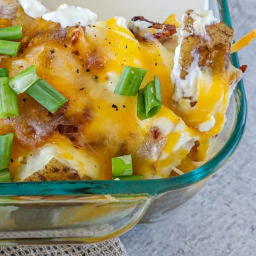
[[[140,30],[139,28],[136,28],[133,25],[133,22],[138,21],[138,20],[151,23],[151,26],[149,26],[148,28],[156,29],[156,33],[151,34],[151,33],[149,33],[148,29]],[[163,40],[165,38],[171,37],[172,35],[174,35],[177,32],[175,25],[150,21],[150,20],[147,20],[143,16],[133,17],[131,19],[128,27],[131,30],[131,32],[133,32],[133,34],[135,35],[135,37],[138,40],[143,39],[143,40],[146,40],[146,41],[150,40],[152,36],[156,39]],[[160,30],[160,32],[159,32],[159,30]]]

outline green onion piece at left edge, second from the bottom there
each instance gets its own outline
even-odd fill
[[[0,170],[9,168],[12,154],[13,134],[0,136]]]

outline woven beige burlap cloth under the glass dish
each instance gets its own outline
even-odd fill
[[[126,256],[118,238],[99,244],[52,245],[52,246],[6,246],[0,247],[0,255],[7,256]]]

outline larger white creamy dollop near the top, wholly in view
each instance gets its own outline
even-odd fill
[[[54,12],[48,12],[42,16],[44,20],[60,23],[62,28],[67,26],[88,26],[96,22],[96,13],[80,6],[68,6],[62,4]]]

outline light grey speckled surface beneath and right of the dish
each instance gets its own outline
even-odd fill
[[[228,2],[236,38],[256,29],[256,0]],[[249,107],[239,149],[177,218],[121,236],[128,256],[256,255],[256,40],[239,58]]]

